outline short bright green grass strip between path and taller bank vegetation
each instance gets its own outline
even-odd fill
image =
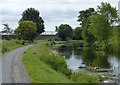
[[[32,78],[32,83],[72,83],[67,76],[56,72],[49,65],[43,63],[37,55],[29,49],[23,55],[23,63],[28,74]]]

